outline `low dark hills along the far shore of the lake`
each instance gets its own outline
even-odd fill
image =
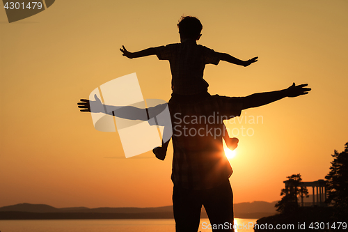
[[[276,214],[275,202],[235,204],[235,217],[260,218]],[[203,208],[201,217],[207,218]],[[45,204],[19,203],[0,208],[0,219],[136,219],[173,218],[173,206],[156,208],[54,208]]]

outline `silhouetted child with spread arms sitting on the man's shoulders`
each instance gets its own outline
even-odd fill
[[[197,45],[196,41],[200,39],[200,32],[203,29],[202,24],[196,17],[182,17],[177,24],[180,33],[180,42],[161,47],[150,47],[139,52],[129,52],[122,46],[120,51],[123,56],[129,59],[157,55],[159,60],[168,60],[172,73],[172,98],[180,98],[184,96],[188,100],[207,94],[209,84],[203,79],[203,71],[206,64],[212,63],[217,65],[219,61],[227,61],[244,67],[258,61],[258,57],[249,59],[248,61],[239,60],[226,53],[215,52],[202,45]],[[237,147],[238,139],[228,137],[228,133],[224,131],[224,140],[231,150]],[[162,147],[153,150],[156,157],[164,160],[168,146],[166,141]]]

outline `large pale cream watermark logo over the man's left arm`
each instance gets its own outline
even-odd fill
[[[89,96],[93,125],[120,136],[126,157],[161,146],[173,134],[167,102],[143,99],[136,73],[95,88]]]

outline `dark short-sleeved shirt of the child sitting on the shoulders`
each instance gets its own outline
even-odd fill
[[[171,65],[172,90],[179,95],[207,92],[209,84],[203,79],[205,65],[217,65],[221,54],[195,40],[155,47],[159,60],[168,60]]]

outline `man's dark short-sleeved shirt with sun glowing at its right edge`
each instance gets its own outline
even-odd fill
[[[244,98],[213,95],[168,102],[173,126],[174,185],[206,190],[226,182],[232,168],[223,150],[223,120],[240,116]]]

